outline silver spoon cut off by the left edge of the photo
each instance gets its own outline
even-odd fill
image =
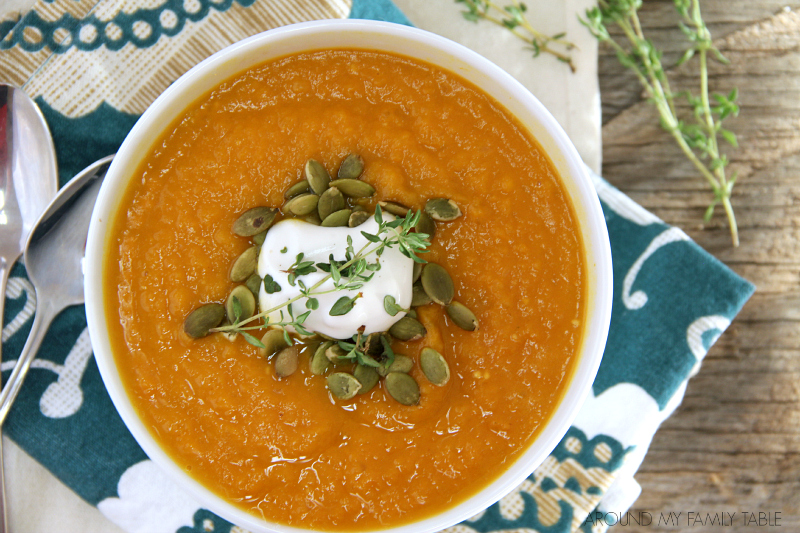
[[[21,89],[0,84],[0,318],[11,267],[57,190],[56,151],[42,112]],[[0,533],[5,533],[2,442],[0,430]]]

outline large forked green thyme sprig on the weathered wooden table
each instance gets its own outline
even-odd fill
[[[608,43],[619,62],[629,68],[641,83],[650,102],[658,110],[661,126],[675,139],[681,151],[691,161],[711,186],[714,197],[706,209],[704,219],[711,220],[714,208],[722,205],[728,218],[731,239],[739,246],[739,231],[736,226],[731,192],[736,183],[736,174],[727,176],[725,168],[728,158],[720,150],[718,136],[734,148],[738,147],[736,135],[723,128],[722,122],[739,113],[736,104],[737,90],[727,94],[709,94],[709,57],[721,63],[728,61],[714,46],[711,33],[700,13],[699,0],[673,0],[680,17],[680,28],[691,43],[678,64],[695,55],[699,58],[700,91],[694,95],[689,91],[673,92],[664,67],[662,53],[644,36],[638,10],[642,0],[598,0],[597,6],[586,11],[581,22],[600,42]],[[622,30],[624,44],[611,37],[608,28],[616,25]],[[678,116],[676,100],[684,98],[692,109],[692,118],[684,120]]]

